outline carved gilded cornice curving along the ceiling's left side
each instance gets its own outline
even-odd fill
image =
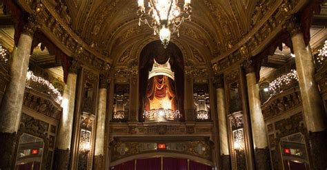
[[[34,3],[30,1],[18,1],[20,6],[30,14],[34,13]],[[80,54],[79,60],[86,65],[94,66],[96,70],[103,72],[103,69],[112,63],[108,57],[100,54],[86,44],[70,26],[61,19],[56,10],[48,1],[41,1],[43,5],[41,16],[41,32],[56,44],[68,56]]]

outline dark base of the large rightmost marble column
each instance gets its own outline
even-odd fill
[[[327,169],[327,131],[310,132],[308,140],[311,169]]]

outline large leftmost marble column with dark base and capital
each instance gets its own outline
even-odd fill
[[[17,131],[30,61],[32,39],[37,25],[33,17],[23,27],[17,47],[14,47],[10,65],[10,82],[0,108],[0,169],[13,169],[16,160]]]

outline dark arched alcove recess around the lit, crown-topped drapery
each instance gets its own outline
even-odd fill
[[[161,45],[161,41],[153,41],[143,47],[139,58],[139,120],[143,121],[144,101],[148,86],[149,72],[152,70],[154,60],[163,65],[169,60],[170,68],[174,72],[177,97],[177,109],[184,121],[184,60],[179,47],[169,43],[167,48]]]

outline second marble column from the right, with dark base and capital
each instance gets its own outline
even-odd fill
[[[270,169],[270,154],[264,115],[261,111],[259,85],[252,62],[245,61],[244,67],[246,70],[246,83],[248,87],[253,148],[255,149],[255,167],[256,169]]]

